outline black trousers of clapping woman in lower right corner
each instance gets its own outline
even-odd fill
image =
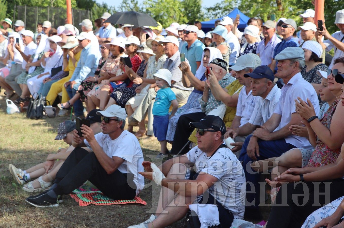
[[[323,182],[304,182],[307,187],[303,187],[301,182],[297,183],[299,184],[295,187],[294,183],[289,183],[286,189],[280,189],[276,196],[275,204],[271,208],[266,228],[301,227],[304,220],[314,212],[314,210],[343,196],[343,179],[327,180]],[[287,192],[284,191],[283,193],[283,190],[287,190]],[[308,200],[307,196],[305,197],[302,195],[304,193],[307,195],[309,193]],[[304,199],[307,202],[304,203]],[[283,201],[286,205],[278,205]]]

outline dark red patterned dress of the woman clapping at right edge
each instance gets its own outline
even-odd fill
[[[335,100],[333,104],[329,107],[327,112],[324,114],[324,117],[320,119],[320,122],[328,129],[330,129],[332,116],[334,114],[334,111],[336,110],[337,104],[338,101]],[[327,164],[334,163],[337,160],[337,157],[341,152],[341,148],[331,150],[318,138],[318,136],[316,136],[315,142],[315,149],[306,167],[325,166]]]

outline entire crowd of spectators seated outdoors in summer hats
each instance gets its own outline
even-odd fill
[[[213,221],[230,227],[234,219],[262,220],[267,183],[274,204],[265,227],[341,222],[344,9],[332,35],[312,9],[300,26],[251,18],[243,32],[228,16],[207,33],[198,21],[116,28],[109,16],[95,20],[95,30],[83,20],[80,33],[72,24],[54,29],[44,21],[34,33],[20,20],[13,30],[10,19],[1,21],[6,99],[45,97],[59,116],[87,113],[91,122],[81,134],[74,122],[61,123],[55,139],[69,148],[46,162],[9,165],[25,191],[44,191],[27,203],[58,206],[87,180],[113,199],[133,199],[147,178],[162,189],[156,213],[130,228],[169,226],[191,205],[205,214],[215,205]],[[159,167],[143,161],[138,139],[157,139],[159,159],[175,156]],[[271,173],[263,183],[262,172]]]

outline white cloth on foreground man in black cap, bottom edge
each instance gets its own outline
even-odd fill
[[[201,222],[201,228],[208,228],[209,226],[216,226],[220,224],[218,217],[218,209],[214,204],[190,204],[190,210],[193,210],[198,215]]]

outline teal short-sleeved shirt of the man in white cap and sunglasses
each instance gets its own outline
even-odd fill
[[[188,48],[188,44],[184,43],[183,46],[180,48],[180,53],[185,53],[185,58],[189,60],[189,64],[191,67],[191,72],[195,75],[197,70],[197,63],[196,61],[202,61],[202,54],[205,45],[199,41],[198,39],[195,40]]]

